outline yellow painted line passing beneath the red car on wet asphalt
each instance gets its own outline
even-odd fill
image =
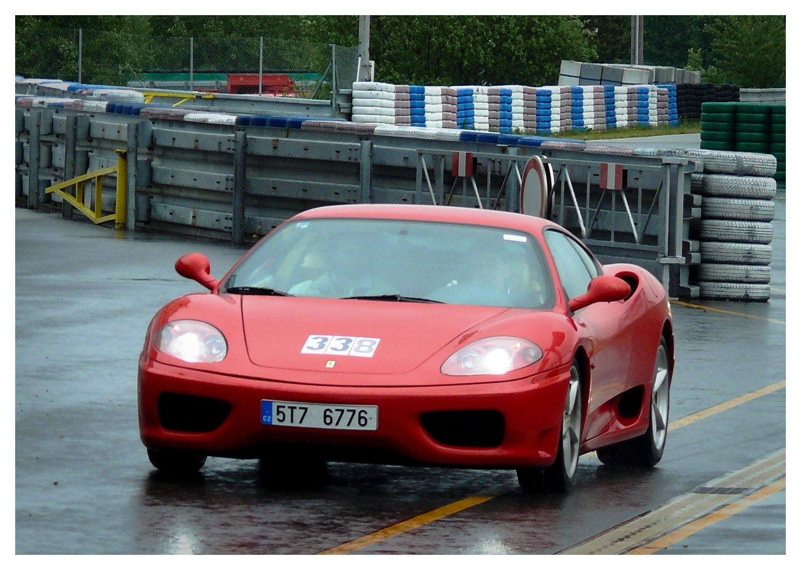
[[[686,415],[682,419],[677,419],[673,422],[670,422],[668,425],[671,429],[684,427],[690,423],[697,422],[699,419],[708,418],[710,415],[719,414],[722,411],[730,410],[732,407],[737,407],[740,404],[750,402],[751,400],[757,399],[763,395],[771,394],[771,392],[781,390],[783,387],[786,387],[786,385],[786,380],[771,384],[770,386],[766,386],[760,388],[759,390],[749,392],[748,394],[738,396],[735,399],[730,399],[728,402],[718,403],[716,406],[707,407],[706,410],[701,410],[695,412],[694,414]],[[485,503],[494,498],[496,498],[496,496],[467,497],[466,499],[459,500],[456,503],[446,504],[444,507],[425,512],[422,515],[415,516],[409,520],[404,520],[398,524],[393,524],[391,527],[382,528],[380,531],[372,532],[371,534],[362,536],[356,540],[351,540],[350,542],[340,544],[334,548],[329,548],[323,552],[318,552],[318,554],[349,554],[351,552],[356,552],[357,550],[367,548],[372,544],[377,544],[387,540],[388,538],[392,538],[392,536],[409,532],[415,528],[423,526],[424,524],[432,523],[435,520],[453,515],[456,512],[464,511],[467,508],[474,507],[477,504]]]

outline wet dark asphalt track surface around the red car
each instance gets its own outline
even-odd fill
[[[783,195],[776,203],[770,303],[697,301],[757,318],[674,303],[671,421],[785,379],[786,327],[763,320],[786,320]],[[139,442],[144,331],[167,300],[200,290],[175,274],[175,259],[203,251],[219,276],[241,251],[15,214],[18,554],[313,554],[475,496],[494,498],[355,552],[550,554],[786,445],[779,389],[671,431],[654,470],[618,472],[582,457],[569,496],[525,495],[505,471],[328,464],[324,476],[298,482],[265,475],[277,465],[215,458],[193,480],[169,480]],[[785,497],[771,494],[658,553],[784,553]]]

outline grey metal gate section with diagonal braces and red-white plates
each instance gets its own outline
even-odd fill
[[[573,231],[603,261],[628,259],[657,275],[672,294],[697,295],[697,287],[689,283],[689,266],[699,261],[698,243],[688,239],[690,219],[700,215],[690,195],[693,161],[563,149],[505,147],[503,151],[474,153],[474,175],[459,178],[444,167],[452,152],[418,149],[415,203],[519,212],[521,171],[530,155],[537,154],[554,172],[549,219]],[[619,191],[600,187],[600,163],[622,167],[626,187]],[[460,182],[461,195],[454,196]],[[690,207],[685,208],[686,201]]]

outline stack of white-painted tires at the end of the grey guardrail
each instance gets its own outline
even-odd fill
[[[776,194],[775,157],[685,151],[702,159],[692,192],[702,196],[698,288],[704,299],[767,301]]]

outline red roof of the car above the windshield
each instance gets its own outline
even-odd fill
[[[295,219],[308,218],[400,219],[419,222],[467,223],[477,226],[504,227],[529,233],[539,233],[545,226],[557,225],[548,219],[513,212],[422,204],[342,204],[312,208],[295,216]]]

